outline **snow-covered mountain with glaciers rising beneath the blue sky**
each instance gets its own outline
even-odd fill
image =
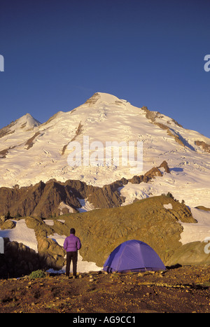
[[[83,158],[87,138],[90,158],[91,155],[97,157],[98,145],[104,149],[104,161],[98,160],[97,165],[90,165],[90,162],[88,165],[87,158]],[[73,141],[81,146],[81,165],[69,165]],[[119,165],[113,158],[107,165],[107,141],[133,142],[135,148],[142,142],[142,172],[129,164],[122,165],[121,152]],[[137,108],[106,93],[95,93],[85,104],[69,112],[59,111],[43,124],[27,113],[3,127],[0,157],[0,186],[8,187],[29,186],[50,179],[78,179],[104,186],[123,177],[131,179],[136,174],[145,174],[166,160],[170,174],[163,171],[163,176],[155,177],[151,183],[128,183],[120,190],[126,197],[125,204],[136,197],[141,199],[169,191],[190,206],[210,207],[210,139],[186,130],[157,111]]]

